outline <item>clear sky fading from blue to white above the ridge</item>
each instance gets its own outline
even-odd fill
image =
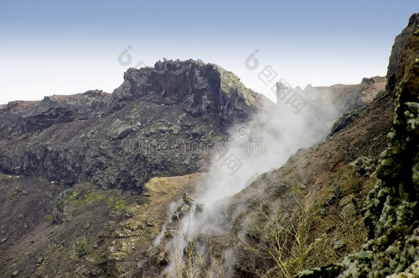
[[[111,93],[128,67],[163,57],[216,63],[268,96],[258,78],[267,65],[291,86],[359,83],[385,75],[414,12],[418,0],[0,0],[0,104]],[[120,65],[125,49],[132,61]],[[256,49],[260,65],[249,70]]]

